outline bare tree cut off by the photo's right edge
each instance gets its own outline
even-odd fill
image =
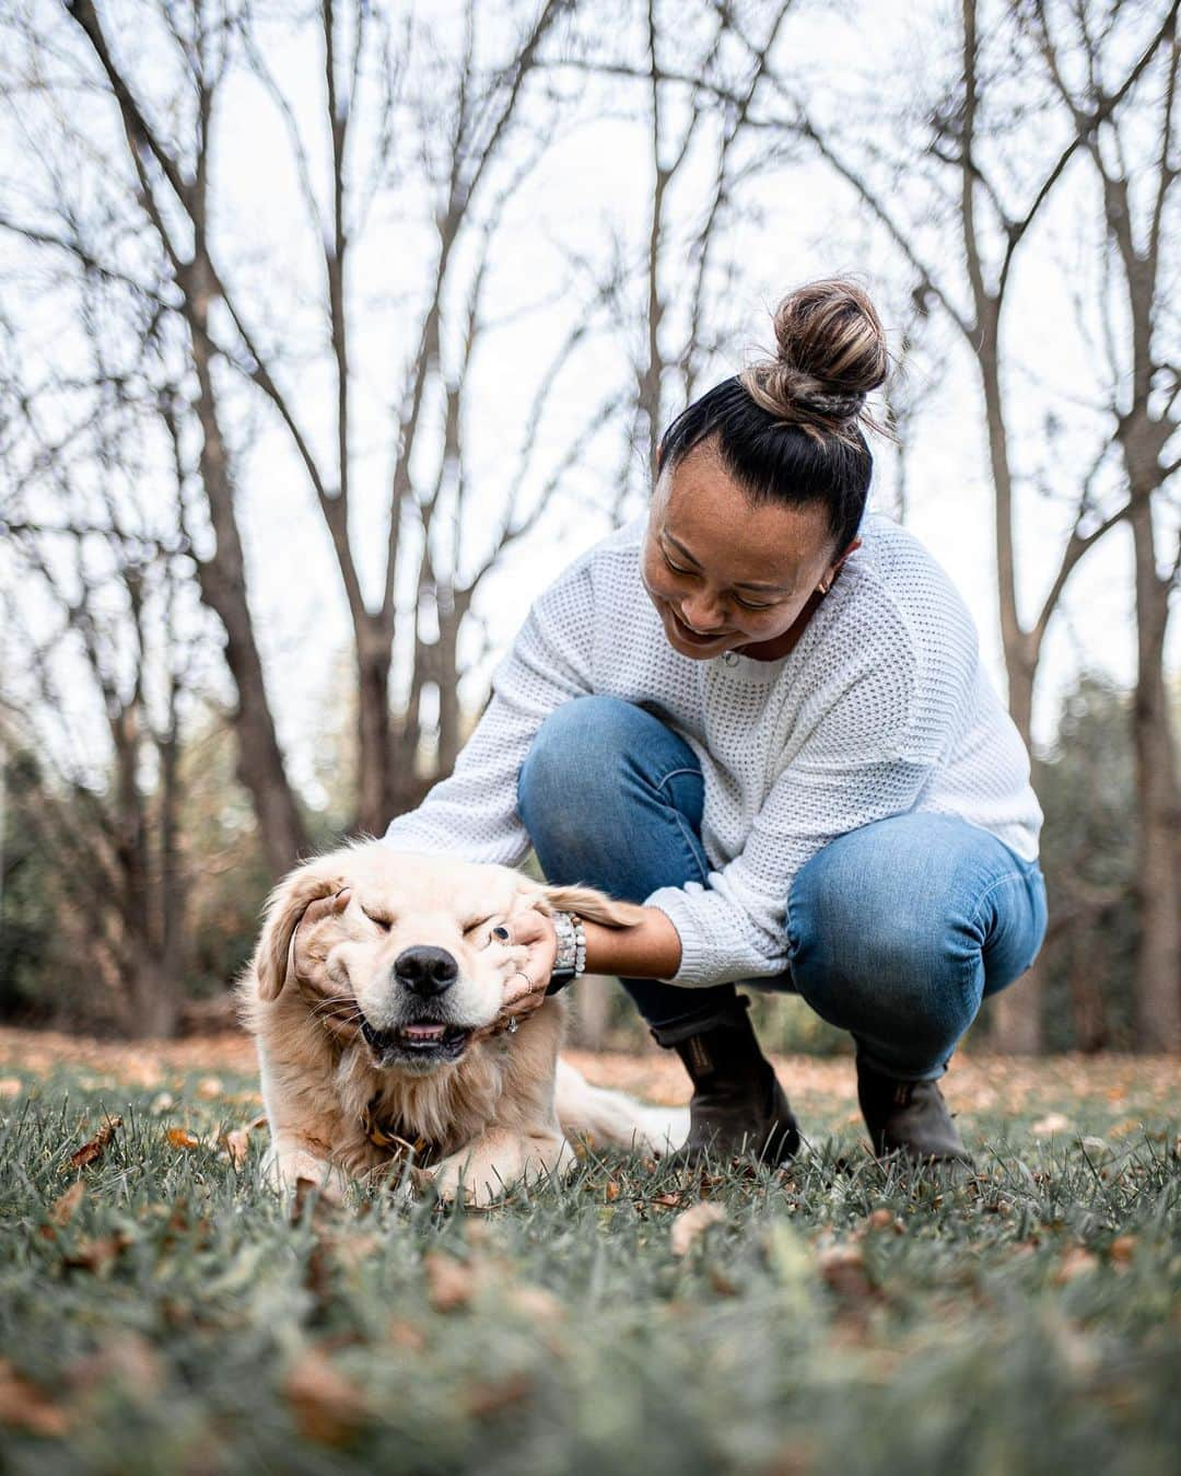
[[[1112,106],[1112,52],[1126,18],[1113,0],[1056,4],[1031,0],[1022,15],[1056,94],[1090,158],[1100,195],[1104,294],[1097,304],[1106,368],[1104,409],[1128,490],[1135,562],[1137,680],[1132,735],[1137,778],[1140,942],[1134,980],[1144,1049],[1181,1048],[1181,791],[1169,732],[1165,635],[1181,571],[1181,539],[1163,511],[1181,468],[1181,335],[1172,306],[1181,255],[1178,198],[1177,3],[1152,27],[1152,65]]]

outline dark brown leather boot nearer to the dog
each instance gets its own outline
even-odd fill
[[[705,1154],[743,1154],[776,1166],[799,1148],[799,1128],[771,1063],[759,1049],[746,1011],[750,1001],[706,1020],[653,1026],[659,1045],[684,1061],[693,1082],[689,1138],[677,1162],[696,1165]]]

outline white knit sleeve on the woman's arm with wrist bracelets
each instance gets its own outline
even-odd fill
[[[916,697],[916,660],[863,652],[843,691],[770,790],[742,852],[708,886],[661,887],[647,897],[681,939],[671,983],[687,987],[764,979],[787,968],[787,896],[796,872],[829,841],[910,810],[935,765],[952,713]]]

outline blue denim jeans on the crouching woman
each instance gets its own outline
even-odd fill
[[[546,877],[628,902],[708,881],[705,781],[691,748],[615,697],[551,713],[520,768],[518,803]],[[837,837],[787,896],[789,973],[752,980],[796,992],[848,1030],[858,1058],[933,1080],[980,1008],[1023,974],[1045,936],[1045,883],[988,831],[948,815],[896,815]],[[733,1005],[734,984],[624,987],[650,1026],[691,1026]]]

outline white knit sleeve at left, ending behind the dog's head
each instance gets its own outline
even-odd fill
[[[492,676],[492,698],[460,753],[416,810],[394,819],[386,844],[515,866],[529,850],[516,785],[548,714],[591,691],[594,602],[590,558],[547,589]]]

